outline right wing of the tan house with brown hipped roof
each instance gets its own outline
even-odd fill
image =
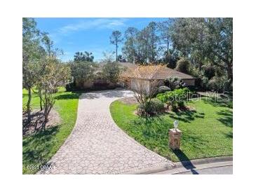
[[[175,69],[170,69],[166,66],[151,65],[142,67],[133,67],[124,74],[128,77],[128,86],[132,90],[151,90],[153,83],[157,85],[164,85],[164,81],[171,77],[180,78],[186,85],[194,86],[196,78],[188,74],[184,74]]]

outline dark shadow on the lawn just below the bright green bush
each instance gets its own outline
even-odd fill
[[[195,118],[204,118],[204,116],[204,113],[197,113],[196,111],[179,111],[175,114],[170,114],[170,118],[183,121],[184,123],[190,123],[191,121],[194,121]]]

